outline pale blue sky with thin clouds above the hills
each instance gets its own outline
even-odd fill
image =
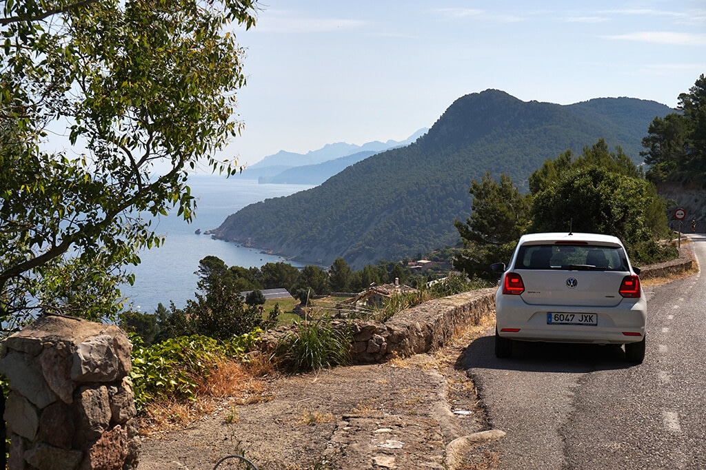
[[[264,0],[226,157],[405,140],[457,98],[634,97],[676,107],[706,74],[706,0]]]

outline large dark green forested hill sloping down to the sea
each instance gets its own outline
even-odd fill
[[[456,100],[426,135],[364,159],[321,186],[230,215],[212,233],[280,255],[352,267],[454,245],[454,219],[471,207],[470,181],[485,171],[526,187],[546,159],[604,138],[640,162],[640,141],[664,104],[599,98],[559,105],[522,102],[498,90]]]

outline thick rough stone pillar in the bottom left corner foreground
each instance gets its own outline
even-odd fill
[[[8,337],[0,373],[11,470],[134,469],[131,344],[115,325],[49,315]]]

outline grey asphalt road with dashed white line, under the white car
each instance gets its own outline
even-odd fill
[[[706,267],[706,236],[692,236]],[[493,332],[469,346],[501,469],[706,469],[706,277],[647,293],[647,353],[525,343],[497,359]]]

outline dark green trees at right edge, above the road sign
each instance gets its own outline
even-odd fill
[[[678,98],[679,112],[655,117],[642,139],[640,155],[654,183],[706,181],[706,76]]]

